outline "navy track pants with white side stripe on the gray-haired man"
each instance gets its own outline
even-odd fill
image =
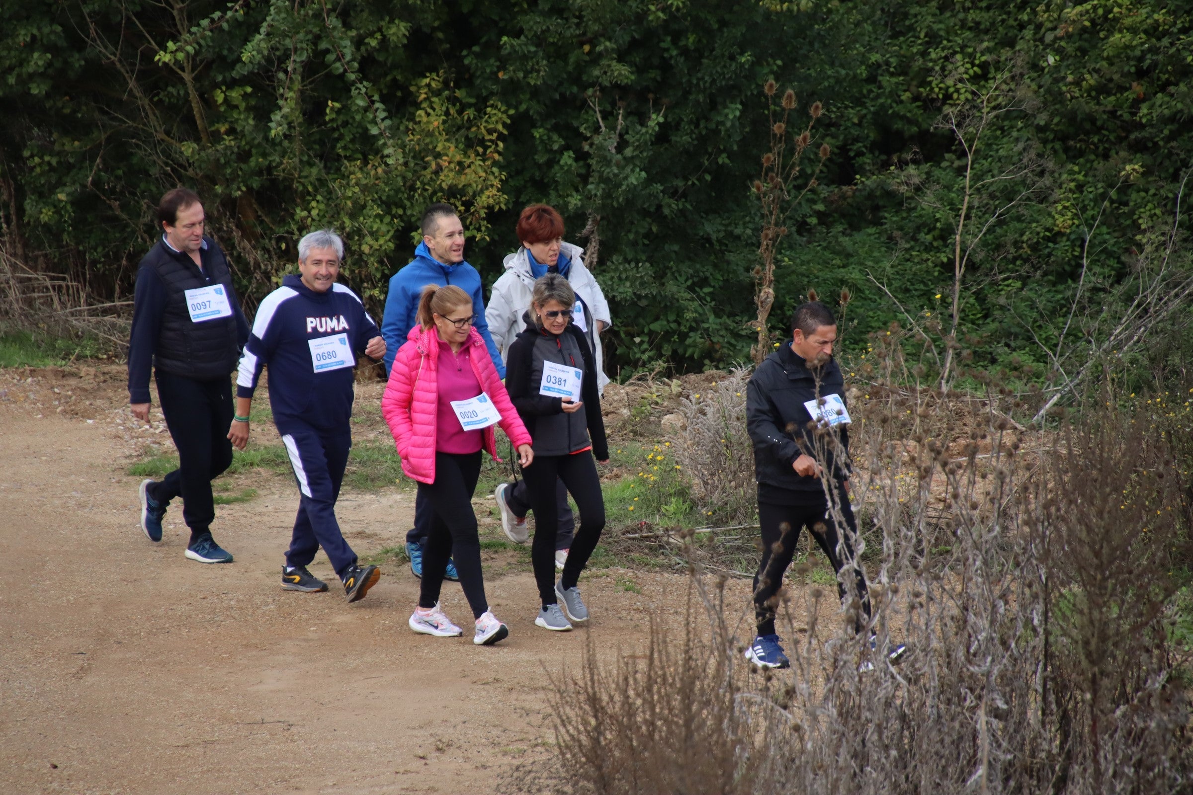
[[[286,565],[307,566],[323,547],[335,573],[342,577],[357,561],[357,554],[344,540],[340,523],[335,521],[335,501],[348,465],[352,434],[347,428],[328,430],[293,420],[288,420],[278,430],[302,492]]]

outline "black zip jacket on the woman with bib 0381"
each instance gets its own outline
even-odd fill
[[[596,390],[596,364],[583,331],[571,323],[563,331],[564,335],[575,339],[583,359],[581,369],[585,372],[580,384],[583,406],[574,414],[565,414],[561,398],[538,393],[539,384],[534,379],[534,372],[537,369],[542,373],[542,368],[534,367],[534,348],[545,347],[543,355],[549,361],[568,366],[573,362],[564,360],[561,340],[539,329],[530,319],[528,312],[524,319],[526,328],[509,343],[509,355],[506,358],[506,391],[531,439],[534,440],[532,445],[534,454],[567,455],[592,443],[593,456],[598,461],[608,460],[608,440],[605,437],[605,420],[600,411],[600,392]]]

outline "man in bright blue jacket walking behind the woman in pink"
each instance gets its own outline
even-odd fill
[[[382,317],[381,334],[385,337],[385,373],[394,365],[397,349],[406,342],[406,335],[416,324],[419,294],[427,285],[456,285],[472,297],[472,325],[481,334],[489,349],[493,365],[501,378],[506,366],[501,352],[493,342],[489,324],[484,321],[484,290],[481,274],[464,261],[464,224],[450,204],[433,204],[422,213],[422,242],[414,249],[414,260],[389,280],[385,296],[385,315]],[[414,529],[406,534],[406,553],[410,558],[410,571],[422,576],[422,542],[431,528],[431,505],[416,499],[414,504]],[[459,579],[456,565],[447,561],[447,579]]]

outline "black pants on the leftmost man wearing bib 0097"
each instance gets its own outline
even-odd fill
[[[166,505],[183,498],[183,518],[191,535],[206,533],[216,518],[211,482],[231,465],[231,378],[197,380],[154,372],[166,427],[178,448],[178,468],[149,493]]]

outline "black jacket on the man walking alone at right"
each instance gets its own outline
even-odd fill
[[[823,498],[820,477],[797,474],[792,465],[801,453],[816,458],[815,426],[810,426],[812,417],[804,403],[826,395],[840,395],[845,402],[845,379],[836,360],[829,359],[818,371],[810,368],[791,349],[791,340],[754,371],[746,386],[746,430],[754,442],[754,478],[760,493],[781,490]],[[836,426],[828,433],[837,435],[848,453],[848,426]],[[848,479],[848,460],[835,459],[835,445],[829,439],[822,437],[820,443],[833,479]]]

